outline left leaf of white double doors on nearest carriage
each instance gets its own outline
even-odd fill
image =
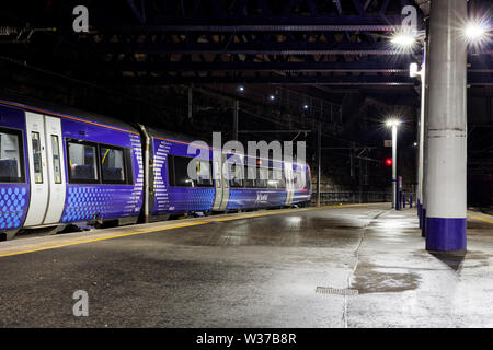
[[[48,172],[46,167],[45,122],[43,115],[25,113],[31,199],[24,225],[41,225],[48,205]]]

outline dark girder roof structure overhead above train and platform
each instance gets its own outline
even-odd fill
[[[1,14],[1,59],[111,84],[400,86],[415,93],[409,66],[422,61],[423,45],[402,49],[390,38],[408,4],[417,9],[424,38],[429,11],[424,0],[88,1],[89,33],[74,33],[76,2],[9,4]],[[470,47],[471,86],[492,84],[492,43]]]

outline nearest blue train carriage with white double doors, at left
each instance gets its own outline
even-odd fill
[[[101,116],[0,100],[0,232],[117,220],[142,194],[138,131]]]

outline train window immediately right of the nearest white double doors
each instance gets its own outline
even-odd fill
[[[70,140],[67,142],[67,151],[70,183],[98,183],[96,145],[84,141]]]

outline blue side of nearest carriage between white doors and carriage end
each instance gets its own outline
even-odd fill
[[[128,220],[128,223],[137,222],[137,218],[140,213],[142,206],[142,183],[144,183],[144,168],[142,168],[142,154],[140,136],[137,132],[124,131],[117,128],[99,126],[93,122],[76,121],[62,118],[61,128],[64,132],[64,154],[66,155],[66,178],[67,182],[67,196],[65,209],[61,215],[61,222],[80,222],[90,220],[110,220],[110,219],[123,219]],[[123,150],[129,150],[131,165],[127,166],[128,173],[131,174],[130,184],[98,184],[90,183],[88,180],[73,180],[77,175],[84,177],[92,172],[96,172],[92,165],[74,164],[74,159],[70,159],[68,155],[68,147],[72,144],[70,140],[78,140],[80,142],[93,142],[81,143],[87,145],[84,148],[84,161],[94,158],[98,162],[104,156],[107,156],[106,147],[118,147]],[[77,143],[77,142],[76,142]],[[76,144],[73,143],[73,144]],[[91,148],[93,144],[103,144],[105,148],[101,148],[105,154],[96,155],[98,148]],[[113,151],[113,150],[112,150]],[[116,150],[115,152],[117,152]],[[89,162],[88,162],[89,163]],[[92,162],[94,163],[94,162]],[[94,166],[98,167],[98,166]],[[104,170],[107,177],[119,176],[117,167],[107,167]],[[94,175],[102,177],[105,174]],[[92,177],[92,175],[88,176]],[[72,179],[71,179],[72,178]],[[104,178],[104,177],[103,177]]]

